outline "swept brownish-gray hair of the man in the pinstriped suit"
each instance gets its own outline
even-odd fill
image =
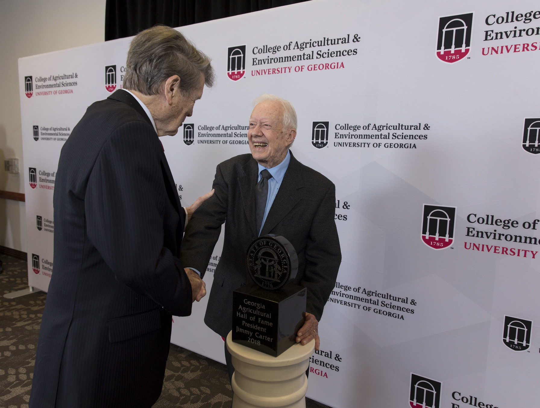
[[[199,84],[201,73],[206,86],[213,85],[210,62],[181,32],[157,25],[139,32],[131,41],[123,87],[155,95],[167,78],[178,75],[181,92],[190,93]]]

